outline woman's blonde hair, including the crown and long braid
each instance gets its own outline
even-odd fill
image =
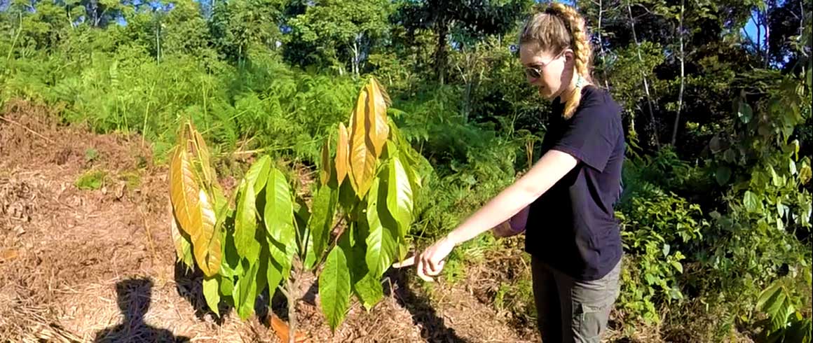
[[[559,54],[571,49],[576,56],[573,69],[579,76],[573,93],[564,106],[563,116],[572,117],[581,101],[581,89],[593,83],[590,67],[593,63],[593,48],[590,46],[585,19],[575,8],[554,2],[541,8],[525,23],[520,33],[520,44],[534,43],[543,51]],[[585,80],[586,82],[582,82]]]

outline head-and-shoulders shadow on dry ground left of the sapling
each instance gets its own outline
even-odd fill
[[[175,336],[171,331],[144,323],[150,309],[153,282],[148,278],[131,278],[115,284],[124,321],[115,327],[96,332],[93,342],[189,342],[189,337]]]

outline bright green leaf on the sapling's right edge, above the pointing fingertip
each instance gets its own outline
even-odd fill
[[[387,168],[389,180],[387,182],[387,207],[389,213],[398,222],[399,238],[406,237],[406,232],[412,223],[412,185],[401,161],[400,154],[393,156]]]

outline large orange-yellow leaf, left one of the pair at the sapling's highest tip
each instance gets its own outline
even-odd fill
[[[364,198],[372,185],[376,172],[376,154],[367,137],[364,122],[367,111],[367,92],[359,92],[359,100],[350,116],[350,181],[359,198]]]

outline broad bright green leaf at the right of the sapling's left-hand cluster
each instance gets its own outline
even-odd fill
[[[263,215],[268,235],[285,246],[291,254],[298,253],[297,233],[293,228],[293,200],[288,180],[276,168],[268,174],[265,212]]]

